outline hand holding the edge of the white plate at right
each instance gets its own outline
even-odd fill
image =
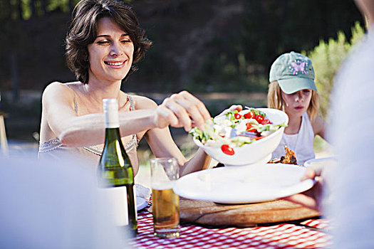
[[[314,186],[311,189],[301,194],[287,196],[282,199],[301,204],[306,208],[311,208],[313,210],[320,211],[323,191],[323,178],[321,177],[322,171],[323,166],[308,167],[301,181],[306,179],[315,179],[316,184],[314,184]]]

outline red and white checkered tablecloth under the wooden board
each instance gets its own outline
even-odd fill
[[[133,248],[327,248],[331,235],[292,223],[255,228],[205,228],[182,225],[179,238],[157,238],[153,235],[152,213],[138,213],[138,235],[130,242]],[[328,228],[326,219],[307,220],[303,225]]]

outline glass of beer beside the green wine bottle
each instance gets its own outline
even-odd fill
[[[180,235],[180,196],[172,190],[180,177],[177,159],[150,159],[152,214],[155,236],[175,238]]]

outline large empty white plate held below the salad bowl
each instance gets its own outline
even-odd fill
[[[291,164],[251,164],[194,172],[177,180],[179,196],[217,203],[254,203],[291,196],[310,189],[300,181],[306,168]]]

